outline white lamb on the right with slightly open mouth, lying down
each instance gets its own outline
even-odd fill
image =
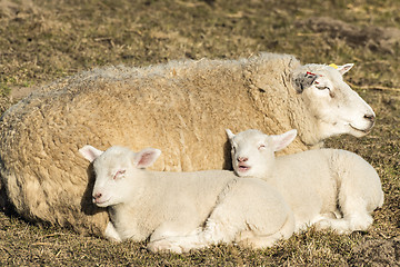
[[[232,165],[239,177],[258,177],[273,185],[294,214],[296,229],[309,225],[338,234],[367,230],[371,212],[383,205],[374,168],[360,156],[340,149],[316,149],[277,157],[297,135],[268,136],[259,130],[238,135],[227,129]]]

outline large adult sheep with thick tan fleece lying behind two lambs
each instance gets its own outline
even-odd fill
[[[190,171],[230,168],[226,128],[296,128],[286,154],[334,135],[360,137],[374,113],[342,80],[351,66],[260,53],[99,68],[56,81],[0,119],[2,196],[29,220],[102,234],[108,216],[91,202],[93,177],[80,147],[158,147],[164,154],[153,169]]]

